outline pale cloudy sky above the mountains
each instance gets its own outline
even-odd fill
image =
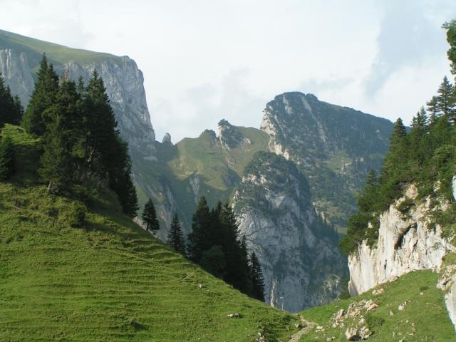
[[[450,73],[455,0],[0,0],[0,28],[130,56],[157,140],[261,125],[287,91],[411,118]],[[5,15],[6,14],[6,15]]]

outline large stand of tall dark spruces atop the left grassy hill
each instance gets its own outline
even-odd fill
[[[131,178],[128,145],[119,135],[103,80],[96,71],[85,85],[59,80],[46,56],[40,63],[31,99],[23,110],[0,79],[1,124],[21,124],[41,138],[38,174],[53,193],[71,193],[75,185],[102,183],[117,195],[123,212],[135,217],[138,199]],[[8,139],[0,144],[6,145]],[[11,172],[10,172],[11,173]]]

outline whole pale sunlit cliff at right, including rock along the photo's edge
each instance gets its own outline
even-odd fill
[[[455,185],[453,181],[453,192]],[[415,205],[405,211],[401,206],[405,202]],[[378,241],[364,240],[348,257],[350,294],[363,294],[410,271],[430,269],[440,273],[438,286],[445,290],[445,304],[456,328],[456,247],[433,216],[450,205],[454,204],[443,199],[437,206],[430,197],[420,200],[416,187],[410,185],[403,197],[380,214]]]

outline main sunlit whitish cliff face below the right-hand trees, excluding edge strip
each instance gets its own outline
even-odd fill
[[[375,246],[370,247],[368,241],[363,241],[356,252],[348,257],[348,288],[352,296],[410,271],[440,271],[442,257],[454,247],[441,237],[440,226],[431,225],[428,217],[430,199],[410,209],[408,214],[398,210],[401,202],[406,199],[415,200],[416,196],[416,188],[409,187],[405,197],[398,199],[380,215],[378,242]]]

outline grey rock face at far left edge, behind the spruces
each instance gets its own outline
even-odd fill
[[[0,50],[0,72],[11,93],[18,95],[25,106],[35,86],[26,54],[11,49]]]

